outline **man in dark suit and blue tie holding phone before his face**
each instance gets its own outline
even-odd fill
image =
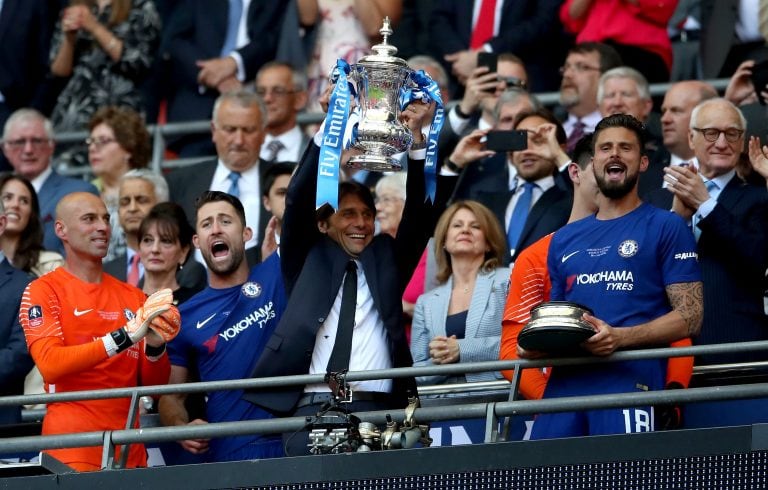
[[[498,170],[496,183],[493,183],[490,173],[479,181],[479,185],[461,179],[455,194],[480,201],[493,211],[507,232],[507,261],[514,261],[527,246],[563,226],[568,221],[573,200],[571,189],[559,184],[556,178],[558,168],[570,160],[564,152],[565,131],[557,119],[546,109],[523,111],[517,115],[513,127],[528,133],[528,147],[506,155],[507,161],[514,168],[514,179],[509,179],[511,172],[507,163],[500,164],[496,158],[493,162],[494,168]],[[464,146],[460,143],[451,159],[459,156],[460,148],[468,148],[472,152],[470,154],[481,156],[482,150],[477,150],[482,147],[483,143],[479,139],[474,145]],[[506,189],[505,185],[508,185]],[[526,197],[527,192],[531,195]],[[513,231],[515,209],[518,202],[524,199],[530,199],[527,217],[522,229]]]

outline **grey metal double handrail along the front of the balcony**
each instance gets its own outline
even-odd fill
[[[537,368],[544,366],[605,364],[629,360],[681,357],[701,354],[718,354],[734,352],[750,352],[768,349],[768,341],[739,342],[733,344],[718,344],[708,346],[656,348],[615,353],[605,358],[578,357],[553,358],[513,361],[487,361],[477,363],[460,363],[451,366],[430,366],[394,368],[389,370],[351,372],[348,380],[401,378],[423,375],[451,375],[468,372],[498,371]],[[760,364],[760,363],[759,363]],[[19,405],[28,403],[51,403],[54,401],[74,401],[105,398],[132,398],[131,411],[135,411],[135,403],[142,395],[162,395],[170,393],[197,393],[203,391],[231,390],[245,388],[269,388],[277,386],[296,386],[322,381],[323,375],[300,375],[286,377],[270,377],[248,380],[228,380],[216,382],[188,383],[180,385],[146,386],[134,388],[116,388],[111,390],[89,390],[70,393],[53,393],[43,395],[21,395],[0,397],[0,406]],[[516,386],[512,383],[510,387]],[[486,441],[495,440],[498,428],[498,417],[508,417],[525,414],[560,412],[573,410],[588,410],[597,408],[617,408],[629,406],[644,406],[655,404],[686,403],[697,401],[715,401],[755,398],[768,395],[768,383],[745,384],[738,386],[717,386],[706,388],[690,388],[687,390],[663,390],[642,393],[618,393],[611,395],[575,396],[542,400],[510,400],[506,402],[456,403],[450,406],[429,406],[417,410],[419,421],[439,421],[463,418],[486,418]],[[361,412],[361,420],[376,424],[384,423],[387,415],[402,419],[405,411],[386,410]],[[304,417],[286,417],[269,420],[252,420],[239,422],[220,422],[195,426],[157,427],[141,429],[125,429],[114,431],[99,431],[77,434],[57,434],[55,436],[27,436],[0,439],[0,453],[38,451],[41,449],[68,448],[82,446],[105,447],[104,454],[113,454],[111,450],[116,445],[133,443],[153,443],[175,441],[190,438],[212,438],[243,434],[283,433],[300,430],[306,424]],[[106,466],[106,460],[105,460]]]

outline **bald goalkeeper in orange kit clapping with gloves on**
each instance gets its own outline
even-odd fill
[[[67,195],[56,206],[54,229],[64,244],[65,264],[27,286],[19,311],[46,391],[167,383],[165,342],[180,324],[170,290],[146,298],[102,272],[111,230],[101,198],[85,192]],[[51,403],[43,434],[124,429],[129,403],[128,398]],[[46,452],[79,471],[102,467],[100,447]],[[115,460],[120,456],[118,449]],[[144,446],[132,445],[126,467],[146,466],[146,461]]]

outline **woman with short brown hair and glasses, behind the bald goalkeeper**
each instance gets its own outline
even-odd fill
[[[144,168],[152,156],[152,142],[144,120],[134,110],[122,107],[102,107],[88,124],[91,135],[88,161],[96,179],[93,185],[107,205],[112,226],[108,262],[125,250],[125,236],[118,217],[120,177],[133,168]]]

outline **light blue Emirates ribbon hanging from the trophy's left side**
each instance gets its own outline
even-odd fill
[[[323,128],[323,143],[320,146],[320,161],[317,166],[317,193],[315,207],[330,204],[333,209],[339,207],[339,165],[341,152],[344,150],[344,136],[349,119],[350,95],[354,96],[354,87],[347,81],[349,64],[339,59],[332,74],[335,82],[328,103]]]

